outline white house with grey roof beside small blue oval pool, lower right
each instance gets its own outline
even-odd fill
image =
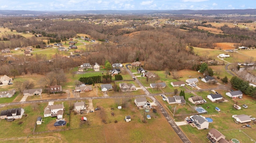
[[[208,129],[209,122],[203,116],[194,115],[191,119],[197,129]]]

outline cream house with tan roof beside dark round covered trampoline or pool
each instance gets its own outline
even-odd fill
[[[53,105],[49,104],[44,108],[44,117],[57,117],[57,119],[63,118],[64,106],[63,104]]]

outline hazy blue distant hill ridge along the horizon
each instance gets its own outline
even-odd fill
[[[35,10],[0,10],[5,16],[38,16],[62,14],[256,14],[256,9],[246,10],[81,10],[81,11],[35,11]]]

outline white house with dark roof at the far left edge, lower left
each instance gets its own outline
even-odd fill
[[[0,119],[21,119],[24,112],[25,110],[21,107],[2,110],[0,113]]]

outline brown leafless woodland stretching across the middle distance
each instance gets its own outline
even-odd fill
[[[59,19],[49,17],[5,17],[0,19],[0,26],[16,30],[20,33],[30,31],[33,34],[42,34],[42,38],[25,38],[17,34],[6,34],[0,37],[0,48],[14,49],[22,45],[44,45],[52,44],[43,42],[67,41],[70,37],[76,37],[77,33],[88,34],[93,39],[109,39],[111,43],[102,42],[95,44],[93,48],[86,51],[86,56],[79,60],[64,58],[60,54],[52,55],[47,59],[46,55],[15,55],[13,59],[6,59],[1,56],[0,74],[17,75],[27,73],[46,74],[57,69],[66,71],[82,63],[99,63],[104,65],[106,60],[110,63],[131,63],[141,61],[147,70],[181,70],[193,69],[200,61],[207,61],[208,57],[199,57],[194,53],[193,47],[213,48],[214,43],[231,42],[240,43],[243,46],[255,47],[255,33],[248,29],[239,27],[230,28],[224,25],[221,27],[223,33],[214,34],[209,31],[198,29],[198,26],[212,27],[208,22],[212,21],[239,21],[248,22],[248,18],[242,20],[231,20],[230,18],[209,18],[172,16],[165,17],[170,20],[196,19],[198,22],[186,23],[180,26],[164,24],[152,26],[147,24],[150,20],[157,21],[158,17],[151,16],[66,16]],[[69,18],[71,20],[64,20]],[[102,20],[119,19],[126,20],[126,23],[115,25],[99,24]],[[164,18],[164,17],[161,17]],[[91,21],[89,22],[89,19]],[[40,21],[41,20],[41,21]],[[83,22],[81,22],[83,21]],[[250,22],[254,21],[252,19]],[[26,26],[25,26],[26,25]],[[127,27],[136,28],[131,29]],[[185,29],[185,30],[184,30]],[[130,34],[132,33],[132,34]],[[129,35],[130,34],[130,35]],[[10,41],[10,42],[5,42]],[[50,60],[50,61],[49,61]],[[12,61],[12,64],[9,64]],[[54,62],[52,62],[54,61]]]

